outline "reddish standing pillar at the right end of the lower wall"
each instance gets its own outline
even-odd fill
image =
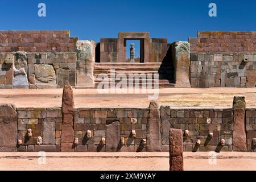
[[[244,96],[234,96],[233,101],[234,124],[233,124],[233,151],[246,152],[245,111],[246,103]]]

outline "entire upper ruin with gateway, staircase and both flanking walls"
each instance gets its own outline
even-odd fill
[[[160,88],[255,87],[255,39],[255,32],[202,31],[189,43],[170,44],[148,32],[119,32],[96,43],[69,31],[0,31],[0,88],[95,88],[111,68],[156,73]],[[127,62],[127,40],[140,41],[135,63]]]

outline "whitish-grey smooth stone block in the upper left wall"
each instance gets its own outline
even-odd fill
[[[28,88],[27,73],[24,68],[16,69],[14,67],[14,88]]]

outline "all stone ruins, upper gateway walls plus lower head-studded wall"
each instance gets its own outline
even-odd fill
[[[126,40],[140,40],[138,62],[126,62]],[[1,89],[64,88],[62,107],[0,105],[0,151],[169,151],[170,129],[180,129],[184,151],[255,152],[256,108],[244,97],[217,109],[155,101],[148,108],[75,108],[72,95],[72,87],[97,88],[110,69],[157,73],[146,79],[160,88],[255,87],[255,40],[255,32],[207,31],[169,44],[148,32],[119,32],[96,43],[69,31],[0,31]]]

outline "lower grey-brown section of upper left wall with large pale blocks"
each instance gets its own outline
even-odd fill
[[[0,53],[0,88],[63,88],[76,84],[76,53]]]

